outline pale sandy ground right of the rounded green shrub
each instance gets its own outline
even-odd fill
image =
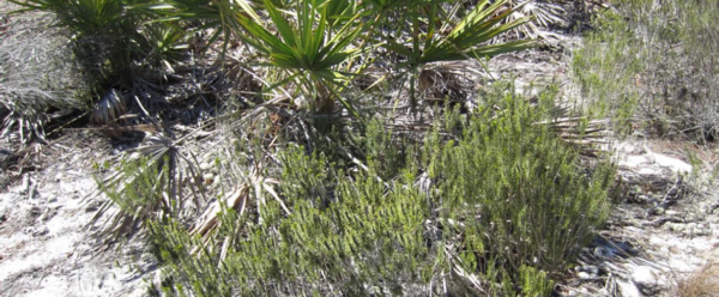
[[[719,259],[716,181],[682,151],[660,154],[646,144],[615,146],[628,190],[573,277],[560,283],[562,296],[679,296],[679,283]]]

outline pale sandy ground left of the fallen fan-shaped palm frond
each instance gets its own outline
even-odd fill
[[[97,253],[86,228],[96,211],[96,199],[83,202],[96,189],[91,164],[108,151],[55,144],[43,150],[52,164],[0,192],[0,296],[141,296],[155,270],[142,245]]]

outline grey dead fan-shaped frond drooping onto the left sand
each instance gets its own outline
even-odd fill
[[[203,181],[195,164],[196,160],[183,154],[170,136],[150,136],[118,171],[98,180],[100,191],[109,199],[101,204],[90,225],[108,215],[98,235],[111,245],[145,230],[151,218],[193,213],[204,198]],[[186,193],[183,184],[188,182],[191,187]]]

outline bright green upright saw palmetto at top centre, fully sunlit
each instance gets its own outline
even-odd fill
[[[338,2],[298,1],[293,16],[290,16],[270,1],[264,1],[275,28],[263,26],[262,19],[251,10],[247,16],[238,15],[237,21],[246,32],[239,36],[265,55],[270,65],[288,72],[285,81],[296,83],[311,110],[332,113],[333,100],[339,100],[351,113],[358,115],[336,89],[347,80],[338,65],[359,54],[359,49],[350,45],[364,25],[358,22],[359,14],[341,22],[337,16],[347,11],[347,6],[339,6]],[[248,9],[251,8],[248,6]],[[278,34],[271,33],[270,29]]]

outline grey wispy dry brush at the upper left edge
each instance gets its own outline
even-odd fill
[[[15,6],[14,6],[15,7]],[[7,7],[10,9],[10,7]],[[45,138],[48,110],[82,109],[86,90],[63,30],[47,14],[0,20],[0,134],[22,143]]]

